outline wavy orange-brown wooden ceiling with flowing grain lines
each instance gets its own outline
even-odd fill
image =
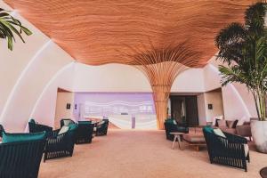
[[[77,61],[100,65],[134,64],[122,53],[180,44],[201,52],[198,67],[216,49],[214,36],[232,21],[242,21],[251,0],[4,0],[53,38]],[[133,53],[134,55],[134,53]]]

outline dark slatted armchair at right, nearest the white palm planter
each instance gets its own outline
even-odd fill
[[[245,144],[247,139],[235,134],[223,134],[226,138],[207,132],[205,127],[203,133],[206,140],[206,147],[210,159],[210,163],[220,164],[224,166],[233,166],[245,169],[247,172],[247,161],[250,161],[249,151],[247,155]]]

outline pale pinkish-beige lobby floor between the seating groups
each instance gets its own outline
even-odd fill
[[[39,178],[257,178],[267,166],[267,155],[254,148],[246,173],[211,165],[205,148],[197,152],[188,145],[184,150],[171,146],[164,131],[110,130],[91,144],[76,145],[72,158],[42,162]]]

